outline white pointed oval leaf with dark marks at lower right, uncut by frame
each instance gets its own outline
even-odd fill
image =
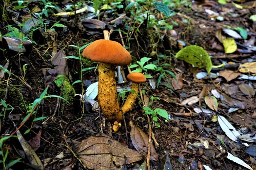
[[[237,142],[237,137],[240,136],[235,127],[223,116],[218,115],[218,123],[225,134],[233,141]]]

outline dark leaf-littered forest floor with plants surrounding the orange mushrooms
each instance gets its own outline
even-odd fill
[[[0,2],[0,169],[256,170],[256,1],[163,2],[117,0],[98,14],[72,0]],[[151,75],[117,132],[98,107],[97,63],[81,58],[104,29]],[[221,66],[209,76],[175,57],[190,45]],[[122,67],[118,92],[135,69]]]

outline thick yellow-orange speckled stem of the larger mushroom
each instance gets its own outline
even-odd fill
[[[107,63],[98,66],[98,102],[110,121],[121,121],[119,112],[115,67]]]

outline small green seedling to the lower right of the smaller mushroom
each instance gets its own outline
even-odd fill
[[[145,114],[149,114],[152,117],[152,120],[155,122],[157,127],[160,127],[160,123],[158,122],[158,116],[165,119],[165,121],[169,120],[168,112],[164,109],[156,108],[152,110],[150,107],[143,107]]]

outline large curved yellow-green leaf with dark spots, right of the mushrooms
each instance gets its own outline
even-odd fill
[[[212,70],[212,61],[209,54],[197,45],[185,47],[177,52],[175,58],[184,60],[198,68],[205,68],[208,73]]]

